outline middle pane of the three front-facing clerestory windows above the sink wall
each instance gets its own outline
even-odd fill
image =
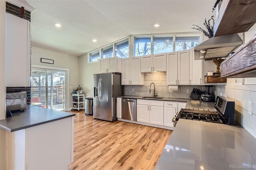
[[[173,37],[172,36],[154,36],[153,38],[153,53],[160,54],[173,52]]]

